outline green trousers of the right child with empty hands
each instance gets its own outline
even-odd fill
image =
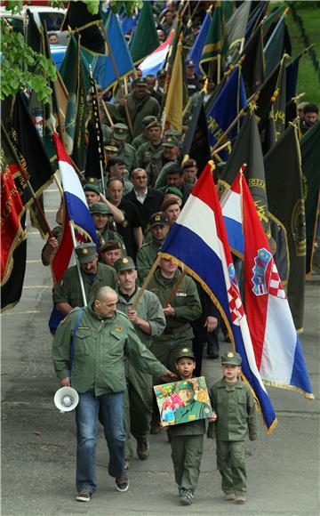
[[[244,440],[217,440],[217,467],[222,477],[221,488],[226,495],[246,492]]]

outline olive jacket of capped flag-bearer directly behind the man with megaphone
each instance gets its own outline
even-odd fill
[[[90,281],[88,274],[83,270],[81,270],[81,276],[84,280],[84,292],[87,302],[97,294],[101,286],[111,286],[114,289],[117,287],[116,271],[105,263],[98,263],[97,274],[93,282]],[[60,278],[59,283],[53,288],[52,298],[54,304],[57,302],[68,302],[72,308],[84,306],[76,265],[66,270]]]

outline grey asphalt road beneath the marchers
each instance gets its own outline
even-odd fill
[[[45,192],[48,220],[54,225],[58,192]],[[173,480],[165,433],[150,436],[151,455],[132,460],[127,493],[108,477],[108,452],[102,432],[98,445],[99,488],[90,504],[75,500],[76,432],[74,414],[53,405],[58,382],[52,370],[52,278],[40,262],[44,242],[28,233],[28,266],[20,303],[1,316],[2,325],[2,514],[51,516],[90,514],[169,516],[244,514],[302,516],[319,514],[319,286],[308,283],[305,332],[301,342],[316,394],[308,401],[297,392],[268,389],[278,418],[267,435],[248,443],[248,502],[225,502],[215,466],[215,442],[205,439],[195,502],[181,507]],[[221,342],[221,351],[228,344]],[[207,383],[220,378],[219,360],[204,359]]]

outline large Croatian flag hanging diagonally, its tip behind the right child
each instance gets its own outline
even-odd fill
[[[259,402],[268,432],[271,431],[276,426],[276,414],[255,362],[210,165],[206,165],[196,182],[161,254],[183,263],[218,306],[232,343],[241,354],[244,377]]]

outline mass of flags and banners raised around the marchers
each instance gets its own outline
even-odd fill
[[[298,333],[315,242],[320,122],[300,138],[294,96],[302,53],[289,57],[286,10],[269,12],[268,2],[248,1],[230,11],[233,4],[212,2],[188,52],[215,88],[205,104],[199,98],[188,121],[183,154],[196,158],[200,176],[161,252],[183,264],[219,307],[271,431],[276,414],[265,384],[312,398]],[[73,263],[76,242],[96,241],[78,177],[88,158],[90,69],[103,92],[135,65],[143,76],[165,69],[163,117],[179,131],[188,102],[179,16],[162,44],[149,2],[133,18],[124,10],[92,15],[83,2],[71,2],[64,25],[71,32],[57,80],[49,84],[51,104],[44,107],[28,89],[2,102],[2,310],[22,292],[27,210],[48,235],[35,199],[57,170],[65,219],[52,258],[54,281]],[[45,40],[45,27],[29,23],[28,41],[50,59]],[[242,293],[231,252],[243,264]]]

